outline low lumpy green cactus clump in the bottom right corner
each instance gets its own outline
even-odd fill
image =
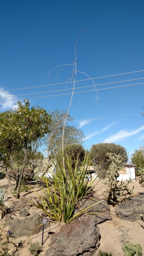
[[[126,243],[122,246],[122,250],[125,253],[125,256],[142,256],[142,246],[140,243],[132,244]]]

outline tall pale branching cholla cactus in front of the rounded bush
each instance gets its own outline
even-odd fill
[[[132,191],[128,188],[128,184],[131,182],[129,180],[127,183],[121,181],[120,185],[118,185],[118,182],[116,179],[119,177],[119,170],[123,169],[123,166],[120,166],[121,163],[121,156],[116,155],[114,153],[107,153],[109,161],[111,162],[109,170],[105,170],[105,173],[107,175],[107,180],[103,182],[104,185],[107,185],[107,190],[103,194],[106,198],[109,204],[113,204],[113,206],[116,204],[117,201],[119,201],[123,195],[123,191],[127,191],[127,193],[131,196]]]

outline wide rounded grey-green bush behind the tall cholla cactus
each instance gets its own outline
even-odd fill
[[[128,161],[128,155],[126,149],[114,143],[98,143],[91,146],[91,157],[94,159],[94,168],[98,173],[105,168],[109,169],[110,162],[107,162],[107,153],[115,153],[120,155],[121,165]],[[105,172],[102,171],[100,178],[105,176]]]

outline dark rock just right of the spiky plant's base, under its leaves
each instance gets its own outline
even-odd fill
[[[76,215],[77,213],[79,213],[83,209],[86,209],[87,207],[97,203],[96,201],[94,201],[92,199],[94,199],[98,202],[102,200],[101,198],[98,198],[98,197],[92,197],[91,199],[89,199],[89,198],[82,199],[79,203],[78,209],[75,209],[73,215]],[[103,200],[101,203],[97,203],[94,206],[92,206],[91,208],[87,209],[85,211],[85,214],[86,214],[86,212],[97,213],[96,215],[95,214],[88,214],[87,215],[87,217],[92,218],[96,222],[96,224],[99,224],[99,223],[102,223],[106,220],[111,220],[112,219],[112,217],[110,215],[110,207],[107,205],[106,200]],[[85,214],[79,216],[77,219],[81,220],[82,218],[85,218]],[[101,215],[101,214],[104,214],[104,215]]]

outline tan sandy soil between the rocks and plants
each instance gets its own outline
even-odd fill
[[[13,182],[14,185],[14,182]],[[0,180],[0,186],[5,186],[7,188],[7,191],[9,191],[7,179]],[[103,198],[102,192],[104,192],[105,188],[103,187],[102,181],[98,182],[95,181],[95,195]],[[132,189],[134,186],[134,195],[139,193],[144,193],[144,187],[141,187],[139,184],[139,181],[134,181],[133,184],[130,184],[129,187]],[[35,196],[34,192],[21,192],[21,196]],[[12,202],[16,200],[15,197],[9,198],[9,205],[12,204]],[[40,209],[37,209],[36,207],[32,207],[30,210],[31,215],[33,215],[35,212],[39,212],[40,214],[42,211]],[[140,242],[143,247],[143,254],[144,254],[144,222],[142,220],[138,221],[125,221],[116,216],[115,213],[115,207],[110,207],[110,212],[112,215],[111,221],[106,221],[104,223],[98,224],[98,227],[100,228],[100,246],[98,250],[101,251],[107,251],[107,252],[113,252],[113,256],[124,256],[124,253],[121,249],[122,245],[122,233],[124,231],[127,232],[130,237],[130,241],[133,243]],[[13,216],[14,218],[19,218],[19,213],[16,214],[16,216]],[[1,220],[1,224],[4,223],[4,219]],[[44,255],[46,250],[49,248],[49,242],[50,242],[50,236],[51,233],[56,232],[59,230],[60,225],[58,223],[51,223],[50,229],[44,229],[44,244],[43,244],[43,251],[40,253],[40,255]],[[7,230],[8,227],[5,228]],[[120,231],[121,229],[121,231]],[[32,235],[31,237],[22,236],[17,239],[13,239],[13,242],[18,244],[21,242],[21,247],[16,252],[16,256],[29,256],[31,255],[29,252],[29,242],[36,242],[39,241],[41,243],[42,239],[42,231],[36,235]],[[94,254],[94,256],[98,256],[98,250]],[[58,255],[55,255],[58,256]]]

